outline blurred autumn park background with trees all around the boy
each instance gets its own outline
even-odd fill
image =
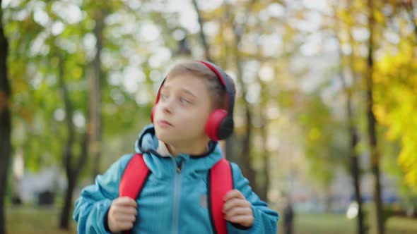
[[[235,80],[221,144],[278,233],[417,233],[417,1],[0,5],[1,234],[76,233],[82,187],[187,58]]]

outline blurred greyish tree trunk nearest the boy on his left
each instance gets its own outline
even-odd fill
[[[93,155],[93,175],[92,179],[100,173],[100,156],[101,156],[101,139],[102,139],[102,115],[101,115],[101,81],[103,71],[101,68],[101,50],[102,50],[102,30],[104,27],[103,11],[95,12],[94,35],[97,39],[96,54],[93,60],[93,75],[90,79],[90,135],[91,135],[91,154]]]

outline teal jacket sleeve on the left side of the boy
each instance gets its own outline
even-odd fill
[[[119,197],[120,179],[131,156],[122,156],[103,175],[95,178],[94,185],[89,185],[81,191],[73,214],[79,234],[110,233],[105,228],[106,213],[113,199]]]

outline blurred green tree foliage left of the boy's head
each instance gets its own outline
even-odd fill
[[[68,134],[64,116],[69,113],[64,112],[58,82],[59,57],[64,60],[64,80],[74,109],[76,142],[80,142],[86,130],[91,61],[97,39],[93,29],[100,14],[105,22],[101,51],[105,73],[101,87],[102,138],[137,133],[140,126],[149,123],[155,97],[153,84],[158,85],[167,65],[150,65],[149,61],[160,48],[174,49],[176,42],[170,35],[177,28],[170,26],[176,22],[174,13],[155,11],[150,4],[143,2],[138,10],[122,1],[35,0],[20,1],[4,8],[6,34],[11,42],[8,64],[13,87],[13,145],[23,149],[25,165],[30,171],[60,165],[62,161]],[[71,16],[67,8],[73,10]],[[76,11],[80,13],[79,18]],[[143,39],[138,32],[146,24],[158,27],[160,38],[165,39]],[[134,84],[126,82],[127,76],[131,80],[132,75],[140,75],[127,74],[127,67],[136,68],[145,79],[136,79]],[[155,70],[160,78],[150,80],[149,75]],[[129,85],[138,88],[129,92]],[[134,140],[131,139],[132,146]],[[74,152],[79,150],[80,144],[74,144]]]

